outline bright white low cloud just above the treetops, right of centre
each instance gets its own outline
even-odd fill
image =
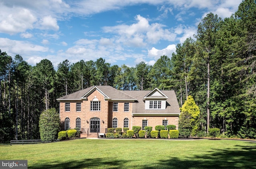
[[[176,51],[176,45],[168,45],[164,49],[156,49],[155,47],[152,47],[152,49],[148,50],[148,56],[154,57],[154,59],[157,60],[163,55],[172,57],[172,53],[175,51]]]

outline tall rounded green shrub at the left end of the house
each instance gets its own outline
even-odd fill
[[[44,110],[39,117],[39,132],[42,141],[54,141],[58,138],[60,117],[55,108]]]

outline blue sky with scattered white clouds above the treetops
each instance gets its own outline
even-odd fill
[[[212,12],[222,19],[242,0],[0,0],[0,49],[30,65],[55,69],[102,57],[106,63],[154,65],[196,34]]]

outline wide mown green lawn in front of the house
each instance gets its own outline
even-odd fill
[[[256,143],[236,140],[91,140],[0,145],[29,169],[256,169]]]

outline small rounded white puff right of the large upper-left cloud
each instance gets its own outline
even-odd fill
[[[45,16],[40,20],[39,24],[39,29],[52,29],[54,31],[59,30],[57,20],[56,18],[52,18],[52,16]]]

